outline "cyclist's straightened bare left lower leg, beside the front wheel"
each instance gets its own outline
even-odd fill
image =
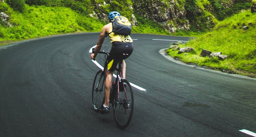
[[[109,97],[110,97],[110,90],[112,88],[112,77],[113,77],[113,73],[111,71],[107,72],[107,76],[106,76],[106,81],[105,81],[105,94],[104,94],[104,98],[105,98],[105,102],[104,105],[106,107],[108,107],[109,105]]]

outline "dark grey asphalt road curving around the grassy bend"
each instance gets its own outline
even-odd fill
[[[159,53],[186,37],[131,34],[126,79],[135,109],[119,129],[112,110],[96,113],[91,88],[99,68],[89,50],[99,33],[37,38],[0,47],[0,136],[247,137],[256,132],[256,81],[177,64]],[[105,39],[103,50],[110,50]],[[96,60],[101,64],[102,56]]]

